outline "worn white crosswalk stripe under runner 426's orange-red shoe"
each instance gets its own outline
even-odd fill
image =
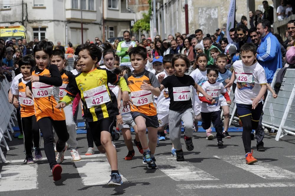
[[[222,159],[227,163],[240,167],[243,170],[251,172],[255,175],[263,177],[264,179],[295,179],[295,173],[289,170],[285,170],[281,167],[270,165],[258,161],[253,165],[247,165],[245,163],[244,156],[214,156]]]

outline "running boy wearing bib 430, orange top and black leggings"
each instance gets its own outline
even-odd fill
[[[63,84],[56,65],[50,65],[53,43],[50,41],[39,41],[34,47],[36,66],[33,68],[32,76],[24,78],[30,80],[26,84],[26,96],[33,96],[35,115],[37,123],[43,135],[44,151],[50,165],[53,180],[61,179],[61,166],[55,160],[53,148],[53,128],[58,135],[56,150],[65,153],[69,139],[65,113],[63,109],[55,106],[59,100],[59,86]]]

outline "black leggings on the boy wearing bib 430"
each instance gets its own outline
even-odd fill
[[[58,136],[56,151],[61,152],[65,148],[65,143],[70,137],[67,125],[65,120],[52,120],[50,117],[41,118],[37,123],[43,135],[45,155],[50,165],[50,169],[52,169],[52,167],[57,164],[53,148],[53,128]]]

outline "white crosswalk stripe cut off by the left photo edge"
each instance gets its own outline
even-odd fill
[[[4,165],[1,171],[0,192],[37,188],[37,165]]]

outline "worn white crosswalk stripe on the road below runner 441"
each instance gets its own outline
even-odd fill
[[[175,157],[159,156],[156,160],[158,169],[176,181],[219,180],[186,161],[176,161]]]

